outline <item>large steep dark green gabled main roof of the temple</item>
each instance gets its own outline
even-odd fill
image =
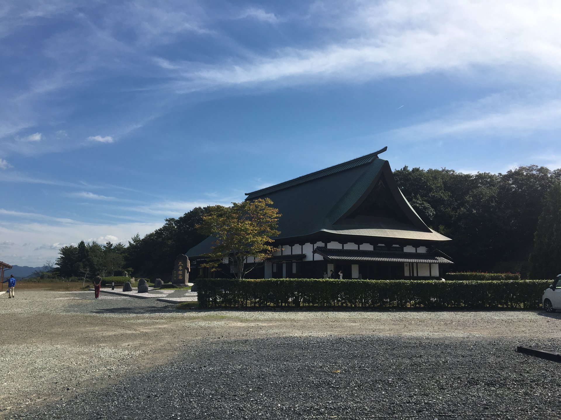
[[[342,164],[312,172],[283,183],[247,193],[247,200],[268,197],[279,209],[280,235],[275,240],[302,241],[306,237],[371,237],[370,240],[447,241],[427,227],[399,190],[388,161],[378,157],[387,147]],[[388,217],[356,217],[376,186],[383,183],[399,220]],[[362,206],[362,207],[361,207]],[[357,213],[358,212],[358,213]],[[210,250],[208,238],[187,252]],[[397,243],[397,242],[396,242]]]

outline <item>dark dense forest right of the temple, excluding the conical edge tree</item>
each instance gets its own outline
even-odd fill
[[[530,165],[505,174],[463,174],[406,166],[394,175],[422,220],[453,239],[439,248],[452,256],[454,271],[528,275],[538,220],[561,170]],[[539,270],[532,274],[545,276]]]

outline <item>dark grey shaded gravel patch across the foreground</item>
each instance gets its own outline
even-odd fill
[[[186,353],[19,418],[561,417],[559,365],[516,353],[506,340],[292,337],[209,342]]]

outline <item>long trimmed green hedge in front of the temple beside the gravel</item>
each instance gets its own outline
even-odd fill
[[[541,307],[548,280],[197,279],[200,307]]]

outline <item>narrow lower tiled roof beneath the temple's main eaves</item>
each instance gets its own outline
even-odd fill
[[[452,261],[442,256],[427,253],[406,253],[401,251],[369,251],[356,249],[329,249],[318,246],[314,253],[327,260],[353,260],[364,262],[390,262],[390,263],[433,263],[452,264]]]

